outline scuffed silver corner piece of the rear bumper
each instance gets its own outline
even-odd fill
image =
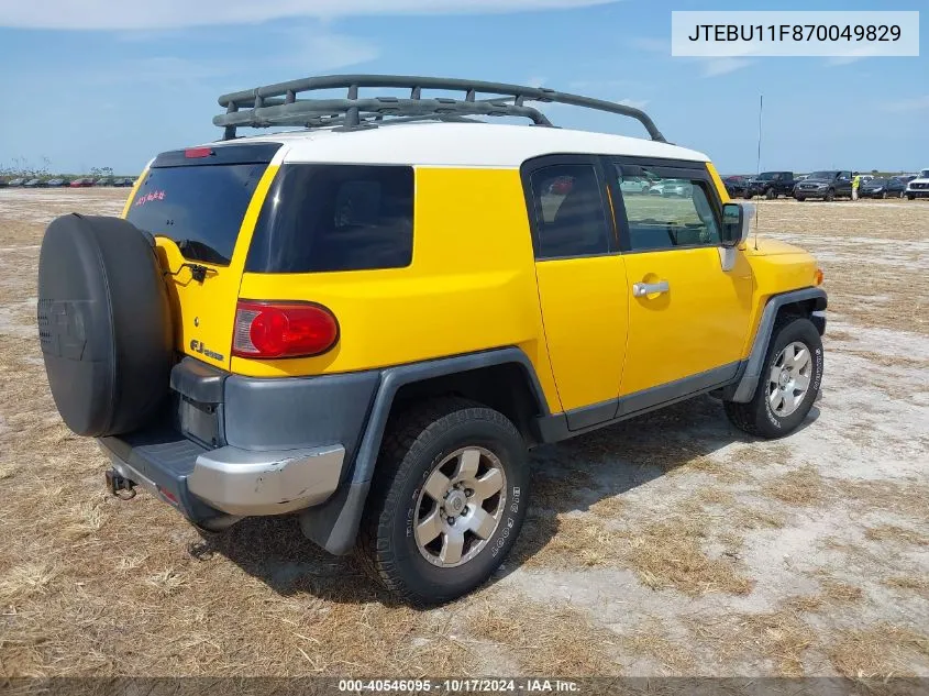
[[[329,498],[344,459],[341,444],[277,452],[225,446],[197,457],[187,487],[230,515],[283,515]]]

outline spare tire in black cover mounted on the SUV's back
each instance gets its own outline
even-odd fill
[[[38,256],[38,336],[65,423],[137,430],[169,391],[172,316],[155,240],[119,218],[56,218]]]

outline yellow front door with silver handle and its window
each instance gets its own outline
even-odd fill
[[[723,270],[721,202],[703,163],[610,158],[626,259],[629,341],[620,415],[732,378],[749,330],[753,279],[741,252]],[[624,176],[673,196],[617,196]]]

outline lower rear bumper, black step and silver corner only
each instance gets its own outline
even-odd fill
[[[324,502],[342,476],[341,444],[254,452],[203,448],[161,428],[120,438],[100,438],[113,468],[188,519],[211,520],[283,515]]]

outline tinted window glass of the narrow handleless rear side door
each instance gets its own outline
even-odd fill
[[[597,170],[589,164],[542,167],[530,175],[537,258],[609,252],[610,229]]]

